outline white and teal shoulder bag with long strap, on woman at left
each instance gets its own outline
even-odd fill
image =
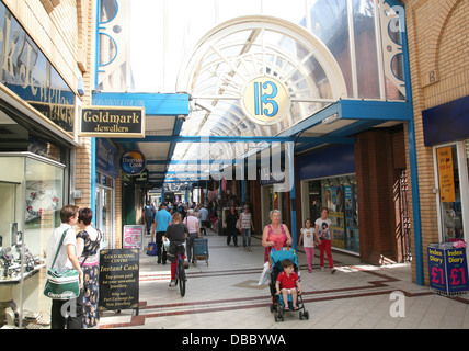
[[[54,268],[60,247],[64,244],[65,235],[67,234],[68,229],[64,231],[53,264],[50,265],[50,269],[47,270],[44,295],[54,299],[71,299],[80,295],[79,272],[76,269],[68,269],[58,273]]]

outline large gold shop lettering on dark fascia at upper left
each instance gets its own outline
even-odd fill
[[[4,18],[4,29],[0,27],[0,42],[2,43],[3,49],[0,53],[0,57],[3,61],[2,69],[8,72],[11,77],[15,76],[15,60],[18,49],[24,50],[23,47],[16,47],[18,43],[15,43],[11,38],[11,20],[5,16]],[[14,36],[13,36],[14,37]],[[50,112],[44,113],[52,121],[64,121],[68,125],[73,125],[73,116],[72,109],[70,105],[73,105],[73,102],[67,101],[61,95],[60,89],[54,89],[50,87],[50,81],[47,79],[46,72],[38,69],[34,63],[32,63],[32,54],[33,47],[24,42],[25,50],[26,50],[26,63],[21,64],[20,67],[16,67],[16,70],[20,75],[20,80],[23,82],[22,88],[31,89],[31,93],[34,97],[38,98],[37,102],[50,104]],[[36,50],[36,49],[35,49]],[[36,56],[37,53],[34,53]],[[36,101],[32,101],[33,103]],[[65,106],[64,106],[65,105]]]

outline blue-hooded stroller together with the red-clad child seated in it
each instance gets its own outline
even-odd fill
[[[293,248],[272,249],[270,254],[270,287],[272,295],[271,312],[273,313],[275,310],[277,313],[275,314],[275,321],[284,320],[284,313],[289,310],[298,310],[299,319],[309,319],[309,313],[305,309],[305,304],[302,303],[301,285],[299,283],[300,272],[296,251]],[[290,285],[283,285],[285,276],[287,280],[293,279]],[[277,279],[279,279],[279,281],[277,281]],[[291,294],[288,294],[288,292],[283,292],[283,298],[281,298],[279,293],[282,292],[283,287],[290,290]]]

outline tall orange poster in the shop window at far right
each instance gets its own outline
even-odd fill
[[[436,150],[438,159],[439,200],[455,202],[455,173],[453,169],[453,148],[442,147]]]

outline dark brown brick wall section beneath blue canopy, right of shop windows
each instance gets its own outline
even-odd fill
[[[371,264],[402,260],[398,250],[394,186],[403,133],[376,129],[362,133],[355,144],[361,259]]]

